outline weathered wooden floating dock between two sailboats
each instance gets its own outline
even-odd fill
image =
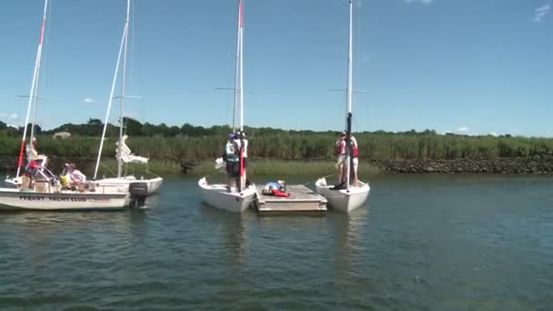
[[[327,199],[303,185],[287,185],[290,196],[264,196],[263,186],[256,186],[256,211],[263,212],[325,212]]]

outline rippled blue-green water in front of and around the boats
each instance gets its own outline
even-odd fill
[[[0,309],[553,308],[553,176],[370,183],[350,215],[235,215],[192,178],[146,210],[2,213]]]

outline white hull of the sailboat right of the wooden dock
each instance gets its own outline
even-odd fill
[[[359,181],[359,185],[351,186],[349,189],[332,190],[324,177],[319,178],[315,183],[317,194],[327,198],[328,206],[341,212],[350,212],[365,205],[370,186],[361,181]]]

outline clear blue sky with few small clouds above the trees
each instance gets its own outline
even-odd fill
[[[18,95],[31,87],[43,5],[0,4],[0,120],[10,125],[25,123]],[[552,5],[355,0],[354,131],[553,136]],[[37,124],[104,119],[125,10],[125,0],[50,1]],[[125,115],[230,124],[232,92],[216,88],[234,85],[236,18],[237,0],[134,0],[126,95],[141,98]],[[343,129],[347,23],[347,0],[245,0],[245,124]]]

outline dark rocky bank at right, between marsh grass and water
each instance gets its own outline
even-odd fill
[[[382,171],[397,174],[553,174],[553,156],[370,162]]]

